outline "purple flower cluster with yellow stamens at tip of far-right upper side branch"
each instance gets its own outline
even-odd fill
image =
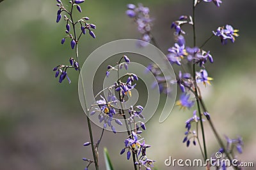
[[[232,43],[235,42],[238,29],[234,29],[231,25],[226,25],[226,27],[218,27],[217,31],[212,31],[215,36],[220,37],[222,45],[227,44],[227,40],[230,39]]]

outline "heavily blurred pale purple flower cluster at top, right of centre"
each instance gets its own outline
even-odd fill
[[[138,25],[138,31],[141,33],[141,40],[150,42],[152,37],[150,34],[152,27],[152,18],[149,16],[149,9],[143,4],[127,4],[128,10],[126,15],[134,19],[134,22]],[[140,46],[145,46],[147,43],[140,43]]]

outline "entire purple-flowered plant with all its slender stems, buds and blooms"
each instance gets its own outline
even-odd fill
[[[216,31],[212,31],[211,36],[205,40],[202,45],[198,46],[196,43],[196,24],[195,24],[195,10],[198,4],[205,2],[213,2],[216,6],[220,7],[222,1],[220,0],[204,0],[204,1],[192,1],[193,3],[193,14],[192,15],[182,15],[178,20],[172,22],[171,28],[174,29],[175,44],[166,50],[166,61],[170,62],[172,65],[179,66],[179,70],[175,71],[176,80],[168,81],[168,78],[164,77],[161,73],[161,68],[156,64],[150,64],[147,69],[151,71],[154,76],[156,76],[156,83],[159,87],[159,92],[164,92],[165,94],[172,93],[172,90],[168,90],[168,83],[177,83],[180,88],[181,94],[179,100],[176,102],[177,106],[180,108],[191,109],[196,108],[193,111],[193,115],[185,122],[185,137],[183,143],[186,146],[190,146],[192,141],[193,145],[197,145],[200,148],[203,159],[206,161],[209,159],[206,146],[205,130],[204,124],[206,122],[211,126],[214,136],[218,140],[219,152],[225,154],[225,157],[229,160],[236,158],[234,148],[237,152],[242,153],[243,141],[242,138],[230,139],[227,136],[227,145],[224,145],[220,135],[214,127],[213,121],[210,117],[209,111],[207,110],[202,95],[200,93],[199,83],[202,83],[205,87],[211,85],[213,80],[208,76],[206,63],[209,60],[213,63],[213,57],[208,50],[204,50],[204,45],[214,36],[219,37],[221,44],[225,45],[230,40],[232,43],[235,42],[236,38],[239,36],[237,34],[238,30],[234,29],[231,25],[225,25],[218,27]],[[93,32],[96,29],[96,25],[88,23],[89,17],[82,17],[79,20],[74,20],[74,8],[77,11],[82,12],[81,6],[79,4],[84,3],[84,1],[71,0],[70,9],[60,0],[57,0],[57,6],[59,10],[57,11],[56,22],[60,22],[63,13],[63,18],[66,22],[65,36],[61,39],[61,44],[65,43],[67,38],[70,38],[70,46],[74,50],[76,57],[70,57],[69,65],[60,64],[54,67],[55,77],[59,77],[59,82],[62,83],[63,80],[67,79],[70,83],[70,78],[68,77],[68,69],[74,69],[78,71],[81,75],[81,67],[79,63],[79,41],[81,37],[89,32],[92,38],[96,38]],[[157,41],[154,38],[151,28],[153,26],[153,19],[150,18],[149,8],[143,6],[142,4],[128,4],[126,14],[134,20],[136,25],[138,25],[138,31],[141,34],[141,40],[138,46],[143,48],[152,43],[159,48]],[[188,46],[186,44],[186,31],[183,29],[184,25],[191,25],[193,30],[193,45]],[[115,66],[109,65],[106,71],[106,77],[108,78],[113,71],[117,72],[116,81],[106,89],[102,89],[96,96],[94,96],[94,102],[87,107],[85,104],[85,112],[88,123],[88,130],[90,132],[90,141],[84,143],[84,146],[91,146],[93,159],[83,158],[87,163],[85,169],[91,167],[94,164],[95,169],[99,169],[99,145],[106,129],[111,129],[113,133],[116,133],[116,126],[125,126],[127,131],[127,138],[124,139],[124,148],[120,151],[120,154],[126,153],[127,160],[132,157],[132,165],[134,169],[151,169],[154,164],[154,160],[148,159],[146,150],[150,148],[150,145],[145,143],[145,139],[142,137],[142,132],[146,131],[143,106],[130,106],[128,109],[124,108],[124,104],[127,102],[127,98],[132,97],[132,89],[136,87],[136,81],[139,81],[139,77],[135,73],[129,73],[129,64],[131,60],[124,54],[120,56],[120,60]],[[189,70],[191,71],[188,71]],[[120,69],[127,70],[127,73],[120,75]],[[83,77],[83,76],[82,76]],[[155,84],[156,84],[155,83]],[[83,90],[84,91],[84,90]],[[105,92],[108,92],[106,97]],[[116,95],[117,94],[117,95]],[[116,97],[118,96],[118,97]],[[192,97],[193,96],[193,97]],[[86,94],[83,93],[84,103],[86,103]],[[98,118],[99,124],[102,127],[102,133],[95,143],[93,138],[93,129],[91,125],[90,117]],[[114,123],[115,122],[115,123]],[[202,136],[202,139],[199,136]],[[234,147],[236,146],[236,147]],[[111,164],[108,159],[106,164]],[[207,165],[210,168],[211,165]],[[221,164],[220,167],[225,169],[227,165]],[[234,166],[239,169],[239,166]],[[113,167],[111,168],[113,169]]]

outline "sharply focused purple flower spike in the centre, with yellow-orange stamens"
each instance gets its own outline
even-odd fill
[[[124,62],[122,62],[122,60],[124,60]],[[106,76],[109,76],[110,71],[119,71],[119,69],[122,69],[123,66],[127,70],[129,63],[130,63],[129,57],[127,57],[127,55],[123,55],[118,62],[117,69],[116,67],[108,66],[108,71],[106,72]],[[124,78],[126,81],[122,81],[124,80]],[[140,134],[142,133],[140,129],[143,129],[144,131],[146,130],[146,126],[144,122],[140,121],[140,119],[144,119],[142,115],[142,111],[144,108],[143,106],[140,106],[140,105],[131,106],[128,111],[125,111],[122,108],[122,103],[125,103],[124,97],[127,96],[128,94],[130,97],[132,96],[131,90],[134,89],[134,87],[136,86],[136,83],[133,84],[133,82],[138,80],[139,78],[138,76],[136,76],[136,74],[127,73],[124,76],[118,77],[118,80],[113,85],[113,87],[115,88],[115,91],[118,92],[119,94],[119,101],[121,102],[121,108],[119,108],[119,111],[120,111],[120,115],[124,117],[125,124],[127,127],[127,133],[128,133],[128,137],[124,141],[125,148],[122,149],[120,154],[122,155],[125,152],[125,150],[127,150],[127,153],[126,153],[127,159],[129,160],[132,155],[134,166],[139,166],[140,169],[141,167],[150,169],[150,167],[152,167],[154,163],[154,160],[148,159],[146,154],[146,150],[147,148],[150,147],[150,145],[145,144],[145,141],[140,136]],[[113,96],[109,95],[108,98],[112,99],[113,101]],[[111,108],[109,108],[108,104],[106,104],[106,100],[100,100],[100,101],[97,101],[97,103],[102,105],[100,108],[100,111],[110,112],[109,110],[111,110]],[[93,114],[94,113],[95,111],[93,112]]]

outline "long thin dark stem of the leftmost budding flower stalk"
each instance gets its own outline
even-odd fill
[[[70,19],[72,21],[72,27],[73,27],[73,31],[74,31],[74,40],[76,41],[76,61],[79,63],[78,44],[77,44],[78,42],[77,42],[77,36],[76,36],[76,25],[75,25],[73,17],[72,17],[73,7],[74,6],[72,4],[71,11],[70,11]],[[80,64],[78,64],[78,65],[79,65],[78,66],[79,67],[78,68],[79,75],[81,75]],[[81,78],[83,78],[83,76],[81,76]],[[86,106],[86,96],[85,96],[85,91],[84,91],[83,79],[81,81],[82,81],[82,88],[83,88],[84,106],[85,106],[86,112],[88,112],[88,108]],[[93,160],[94,160],[95,168],[96,168],[96,170],[99,170],[99,164],[98,164],[98,159],[97,159],[98,154],[96,153],[95,145],[94,145],[94,142],[93,142],[93,133],[92,133],[91,121],[90,121],[90,118],[87,116],[86,113],[85,113],[85,115],[86,115],[86,118],[87,118],[87,124],[88,124],[88,130],[89,130],[89,134],[90,134],[90,142],[91,142],[91,146],[92,146],[92,153],[93,153]]]

